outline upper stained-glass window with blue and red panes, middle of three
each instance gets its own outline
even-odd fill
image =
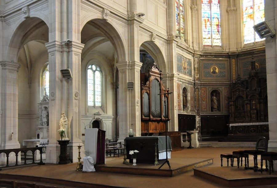
[[[202,0],[203,45],[220,46],[219,0]]]

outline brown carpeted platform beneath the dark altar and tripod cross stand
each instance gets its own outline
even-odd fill
[[[122,164],[122,158],[118,159],[115,157],[109,158],[109,161],[106,161],[105,165],[95,165],[94,167],[98,172],[173,177],[177,174],[182,174],[188,170],[192,170],[195,167],[213,164],[213,159],[211,158],[172,158],[168,159],[171,169],[169,169],[167,163],[158,169],[164,161],[165,160],[160,160],[160,164],[156,166],[153,164],[141,163],[137,163],[137,166],[133,166],[132,163]]]

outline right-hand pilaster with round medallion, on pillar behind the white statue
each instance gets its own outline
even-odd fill
[[[72,78],[68,81],[68,126],[69,126],[69,157],[72,162],[78,162],[78,147],[81,141],[81,52],[84,44],[74,42],[68,44],[68,68]]]

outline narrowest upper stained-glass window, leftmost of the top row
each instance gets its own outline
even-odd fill
[[[184,3],[183,0],[175,0],[175,22],[176,22],[176,34],[181,35],[181,39],[185,40],[184,31]]]

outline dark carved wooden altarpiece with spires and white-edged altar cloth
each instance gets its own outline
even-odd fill
[[[256,141],[260,136],[268,138],[267,82],[266,78],[259,78],[255,61],[251,61],[248,80],[241,80],[238,75],[231,86],[231,96],[228,137],[240,136],[248,141]]]

